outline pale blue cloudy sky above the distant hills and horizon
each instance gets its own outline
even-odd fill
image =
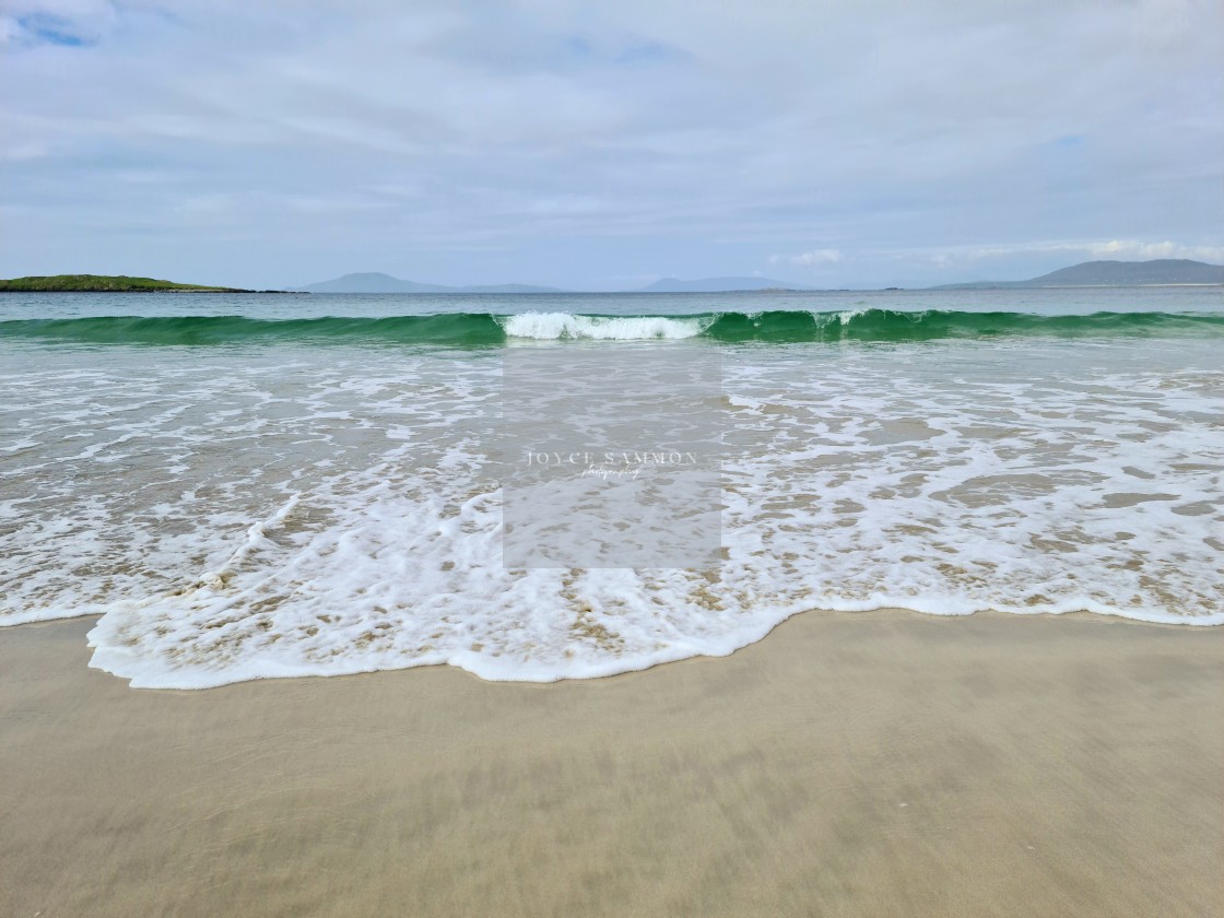
[[[0,277],[1224,263],[1219,0],[0,0]]]

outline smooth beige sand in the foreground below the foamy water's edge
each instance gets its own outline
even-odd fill
[[[611,679],[132,690],[0,632],[0,914],[1224,914],[1224,629],[809,613]]]

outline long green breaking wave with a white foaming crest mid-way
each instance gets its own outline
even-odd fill
[[[450,348],[508,340],[698,338],[723,343],[929,341],[999,337],[1224,337],[1224,313],[1024,312],[862,310],[857,312],[711,312],[689,316],[578,316],[487,312],[382,318],[261,319],[242,316],[98,316],[0,321],[0,338],[78,344],[202,346],[247,343],[382,343]]]

